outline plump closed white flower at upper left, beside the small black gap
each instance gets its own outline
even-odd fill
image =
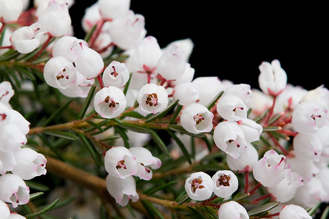
[[[50,36],[61,37],[71,28],[69,7],[66,3],[50,0],[47,8],[38,17],[41,31]]]

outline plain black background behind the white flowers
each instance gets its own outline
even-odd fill
[[[81,18],[96,0],[76,0],[70,9],[75,36],[83,38]],[[191,3],[194,2],[194,3]],[[145,17],[147,35],[161,47],[191,38],[195,77],[218,76],[258,88],[258,66],[278,59],[288,83],[328,87],[328,17],[322,5],[219,3],[219,1],[131,0]]]

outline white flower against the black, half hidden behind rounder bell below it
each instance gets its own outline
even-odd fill
[[[252,98],[252,90],[249,84],[240,83],[240,84],[232,84],[231,86],[225,89],[224,95],[234,95],[239,97],[244,104],[248,104],[250,99]]]

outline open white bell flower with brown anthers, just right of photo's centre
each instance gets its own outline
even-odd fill
[[[181,113],[182,127],[193,134],[210,132],[213,129],[214,114],[207,107],[198,103],[186,106]]]

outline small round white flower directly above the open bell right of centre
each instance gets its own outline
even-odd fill
[[[199,88],[192,82],[183,82],[174,87],[172,96],[179,100],[178,104],[188,106],[199,99]]]

